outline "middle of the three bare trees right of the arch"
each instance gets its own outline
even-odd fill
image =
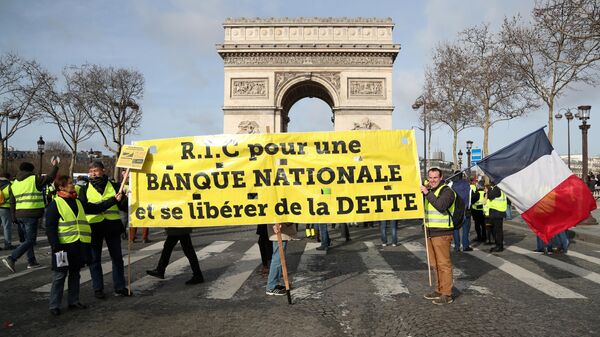
[[[483,153],[487,155],[489,132],[494,124],[523,116],[538,105],[518,73],[507,66],[506,49],[487,24],[464,30],[460,39],[471,57],[467,85],[479,105]]]

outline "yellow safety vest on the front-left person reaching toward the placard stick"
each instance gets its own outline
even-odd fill
[[[58,242],[60,244],[73,243],[77,240],[83,243],[92,242],[92,229],[88,224],[81,201],[75,199],[77,203],[77,216],[75,216],[65,199],[57,197],[54,200],[56,201],[58,213],[60,213]]]

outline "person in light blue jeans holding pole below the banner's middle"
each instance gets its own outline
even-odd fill
[[[283,270],[281,267],[281,259],[279,257],[279,243],[277,240],[277,233],[281,233],[281,239],[283,241],[283,255],[287,243],[296,237],[296,226],[292,223],[275,224],[268,226],[269,239],[273,241],[273,256],[271,258],[271,267],[269,269],[269,277],[267,279],[267,295],[281,296],[285,295],[285,286],[283,285]]]

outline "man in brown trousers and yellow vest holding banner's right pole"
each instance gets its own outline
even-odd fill
[[[426,186],[421,186],[425,196],[425,227],[427,231],[427,252],[435,273],[436,288],[424,297],[434,304],[444,305],[454,301],[452,297],[452,260],[450,243],[454,225],[451,212],[454,210],[456,194],[443,183],[442,171],[431,168],[427,172]]]

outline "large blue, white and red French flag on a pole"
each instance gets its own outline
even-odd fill
[[[560,159],[544,128],[477,165],[506,193],[521,217],[546,243],[596,209],[592,193]]]

